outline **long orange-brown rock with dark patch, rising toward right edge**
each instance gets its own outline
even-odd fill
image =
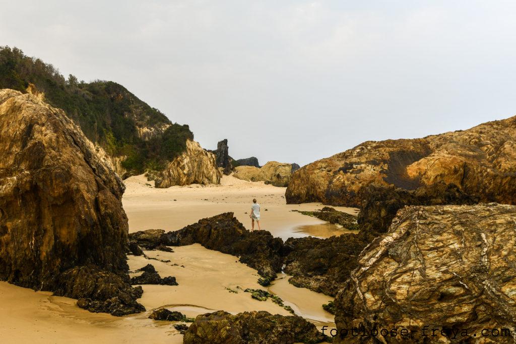
[[[516,117],[422,139],[366,141],[299,169],[285,198],[359,207],[370,184],[415,190],[438,183],[481,202],[516,203]]]

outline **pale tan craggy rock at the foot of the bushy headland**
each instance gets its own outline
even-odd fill
[[[154,186],[168,188],[173,185],[220,184],[220,177],[215,155],[203,150],[198,142],[187,140],[186,151],[156,174]]]

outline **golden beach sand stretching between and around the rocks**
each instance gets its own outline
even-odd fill
[[[143,176],[126,179],[123,198],[130,232],[162,228],[178,230],[201,218],[233,211],[237,219],[250,228],[251,200],[262,208],[262,229],[286,239],[313,235],[328,237],[343,233],[342,228],[290,210],[314,210],[318,203],[286,205],[285,188],[263,182],[240,181],[224,176],[221,185],[191,185],[154,189]],[[149,184],[149,185],[147,185]],[[175,201],[174,201],[175,200]],[[267,211],[265,211],[267,209]],[[337,207],[356,214],[356,209]],[[179,286],[144,285],[139,300],[147,312],[126,317],[93,314],[80,309],[75,300],[51,296],[0,282],[0,342],[17,343],[180,343],[180,335],[170,322],[148,319],[152,309],[167,307],[193,317],[223,309],[236,314],[246,310],[267,310],[289,315],[277,304],[257,301],[246,288],[263,288],[256,283],[256,270],[238,263],[234,256],[207,250],[199,244],[174,247],[173,253],[147,251],[149,257],[169,263],[128,256],[131,270],[151,263],[163,276],[175,276]],[[134,274],[133,274],[134,275]],[[321,308],[332,298],[287,282],[284,274],[267,289],[280,296],[286,305],[319,328],[332,325],[333,316]],[[234,292],[232,292],[233,290]]]

